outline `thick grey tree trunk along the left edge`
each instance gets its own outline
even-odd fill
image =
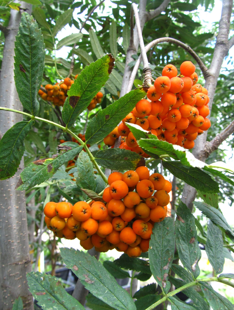
[[[22,8],[31,13],[31,5],[20,2]],[[19,29],[21,12],[11,10],[6,35],[2,69],[0,76],[0,104],[2,107],[23,110],[14,81],[14,47],[15,36]],[[0,137],[11,126],[23,120],[21,114],[7,111],[0,112]],[[24,167],[23,160],[17,173],[10,179],[1,181],[0,191],[0,258],[1,258],[1,290],[0,309],[11,310],[12,304],[19,296],[23,300],[24,309],[33,309],[33,299],[28,290],[26,273],[31,271],[28,246],[27,212],[25,193],[16,191],[15,185],[19,173]]]

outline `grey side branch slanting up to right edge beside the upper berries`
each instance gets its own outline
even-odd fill
[[[219,145],[226,140],[229,135],[233,134],[234,132],[234,121],[231,122],[220,134],[216,135],[214,139],[210,142],[207,141],[205,144],[204,152],[205,156],[208,157],[213,151],[217,150]]]

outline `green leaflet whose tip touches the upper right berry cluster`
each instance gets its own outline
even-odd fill
[[[113,104],[108,105],[107,108],[100,110],[86,129],[86,143],[92,144],[105,138],[132,111],[144,95],[143,88],[130,91]]]

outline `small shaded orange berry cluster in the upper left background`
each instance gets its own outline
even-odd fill
[[[55,85],[46,84],[45,89],[47,93],[39,90],[38,94],[43,100],[51,101],[54,105],[63,106],[67,98],[67,91],[69,91],[73,83],[74,81],[70,78],[65,78],[64,81]]]

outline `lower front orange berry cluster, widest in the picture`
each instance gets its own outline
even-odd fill
[[[85,250],[116,249],[130,257],[147,252],[154,223],[167,214],[172,185],[159,173],[150,175],[145,166],[108,177],[103,200],[48,202],[44,208],[48,229],[57,237],[80,240]],[[156,191],[156,192],[154,192]]]

